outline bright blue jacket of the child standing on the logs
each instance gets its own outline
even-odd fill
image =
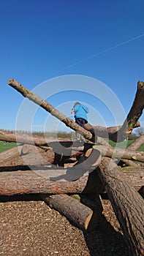
[[[75,118],[83,118],[88,121],[86,114],[89,112],[89,110],[86,106],[82,104],[77,104],[74,108],[72,108],[72,110],[74,110]]]

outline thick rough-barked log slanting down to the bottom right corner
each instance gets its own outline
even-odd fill
[[[144,204],[132,184],[112,159],[105,157],[96,168],[132,256],[144,255]]]

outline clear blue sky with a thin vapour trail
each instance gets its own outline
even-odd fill
[[[76,85],[66,83],[65,78],[62,83],[61,76],[86,76],[101,81],[118,97],[127,114],[137,81],[144,81],[143,10],[143,0],[1,0],[0,129],[15,129],[17,120],[21,129],[29,129],[31,113],[34,130],[55,129],[55,126],[65,129],[48,117],[45,110],[33,113],[33,105],[29,103],[29,109],[19,118],[24,98],[7,85],[10,78],[30,90],[38,86],[41,93],[45,86],[39,84],[56,78],[55,89],[53,83],[47,84],[47,93],[52,89],[49,97],[46,92],[42,94],[50,104],[72,117],[73,102],[82,101],[91,110],[88,118],[92,124],[115,125],[110,111],[115,116],[118,109],[110,99],[113,105],[106,110],[105,89],[103,98],[96,99],[88,95],[87,82],[81,84],[84,92],[80,92],[74,90]],[[98,91],[96,86],[91,83],[90,86]],[[143,116],[140,121],[144,126]]]

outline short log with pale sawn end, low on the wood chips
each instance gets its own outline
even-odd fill
[[[75,223],[80,229],[91,231],[99,224],[99,217],[102,215],[102,207],[98,207],[95,211],[78,202],[69,195],[42,195],[42,199],[51,208],[59,211],[71,222]]]

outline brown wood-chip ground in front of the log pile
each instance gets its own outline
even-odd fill
[[[37,195],[0,197],[0,255],[128,256],[109,200],[99,227],[83,232]]]

